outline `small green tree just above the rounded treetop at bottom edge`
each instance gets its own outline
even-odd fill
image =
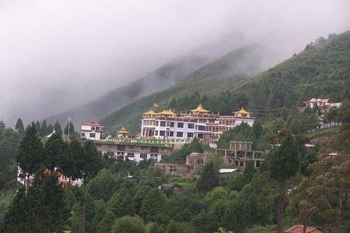
[[[108,203],[109,209],[117,216],[132,216],[134,214],[134,201],[130,190],[121,188],[116,191]]]

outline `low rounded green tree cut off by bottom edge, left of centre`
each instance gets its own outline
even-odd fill
[[[145,233],[145,223],[139,216],[124,216],[118,218],[113,226],[112,233]]]

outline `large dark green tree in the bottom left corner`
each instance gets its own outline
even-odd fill
[[[36,173],[34,183],[20,189],[5,217],[8,232],[59,231],[67,219],[64,190],[57,176]]]

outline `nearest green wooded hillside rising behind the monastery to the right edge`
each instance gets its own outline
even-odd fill
[[[293,106],[302,106],[305,99],[330,98],[344,101],[350,97],[350,31],[318,38],[298,55],[246,80],[230,92],[207,98],[173,99],[170,108],[188,111],[198,104],[215,113],[230,114],[244,106],[255,116],[267,116]],[[202,95],[204,93],[201,93]]]

